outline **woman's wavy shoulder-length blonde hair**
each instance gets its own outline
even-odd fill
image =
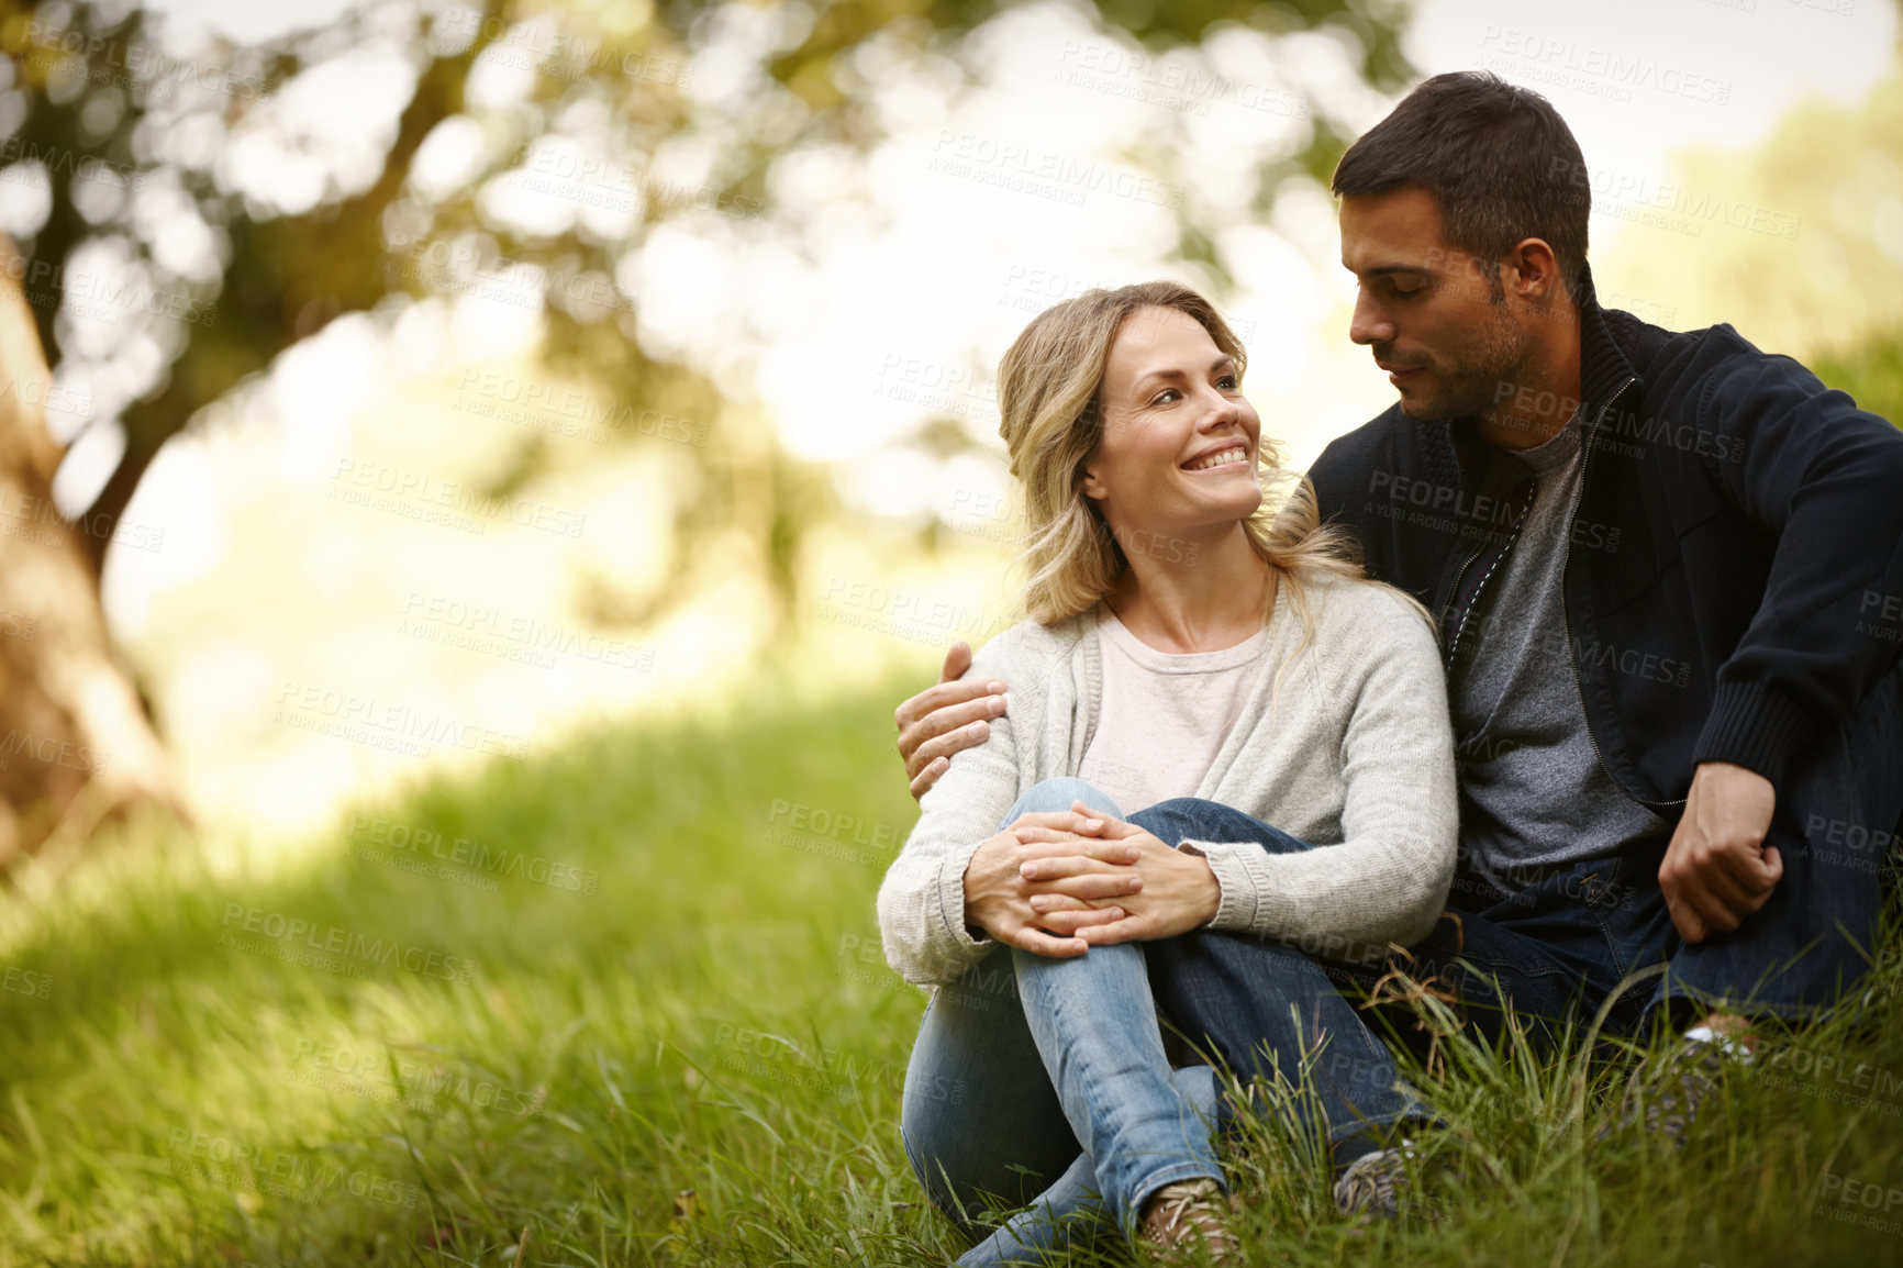
[[[1226,354],[1237,381],[1248,364],[1243,343],[1216,307],[1178,282],[1094,289],[1039,312],[997,367],[999,436],[1024,495],[1028,571],[1024,615],[1054,624],[1089,611],[1128,569],[1128,558],[1083,493],[1083,465],[1104,438],[1098,388],[1109,347],[1138,308],[1176,308],[1193,318]],[[1324,525],[1307,478],[1283,466],[1281,446],[1262,436],[1256,478],[1262,505],[1243,531],[1269,567],[1269,602],[1286,594],[1315,634],[1309,584],[1323,577],[1364,579],[1361,543]],[[1425,615],[1425,611],[1423,611]]]

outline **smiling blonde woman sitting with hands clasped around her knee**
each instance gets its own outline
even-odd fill
[[[1363,579],[1305,485],[1264,505],[1281,468],[1243,367],[1170,282],[1056,305],[999,367],[1028,619],[972,672],[1009,682],[1010,710],[919,802],[879,889],[887,960],[936,988],[902,1108],[927,1194],[976,1234],[984,1196],[1049,1186],[959,1262],[1033,1257],[1073,1215],[1226,1257],[1214,1076],[1170,1068],[1144,942],[1207,927],[1353,958],[1422,937],[1446,897],[1431,626]],[[1277,824],[1286,851],[1144,828],[1195,821],[1167,813],[1191,796]],[[1374,1089],[1357,1127],[1404,1112]]]

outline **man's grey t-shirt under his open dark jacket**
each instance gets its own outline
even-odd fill
[[[1448,678],[1460,763],[1460,847],[1517,893],[1555,862],[1602,859],[1667,824],[1599,763],[1566,632],[1566,535],[1579,497],[1581,421],[1520,451],[1492,451],[1488,491],[1532,468],[1519,539],[1482,586]]]

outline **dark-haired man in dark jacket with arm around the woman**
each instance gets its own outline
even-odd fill
[[[1671,1110],[1699,1087],[1684,1070],[1749,1057],[1753,1017],[1812,1017],[1873,958],[1903,819],[1903,623],[1884,615],[1903,607],[1903,434],[1730,326],[1600,308],[1585,164],[1538,93],[1435,76],[1332,187],[1349,337],[1401,400],[1309,478],[1370,575],[1437,615],[1460,752],[1450,912],[1391,965],[1482,1028],[1496,988],[1522,1015],[1669,1020],[1692,1062]],[[915,796],[1005,710],[1007,684],[967,666],[953,647],[898,710]],[[1085,897],[1108,866],[1026,887]],[[1330,996],[1382,967],[1311,950],[1195,933],[1153,973],[1182,1030],[1260,1072],[1262,1043],[1302,1051],[1292,1003],[1363,1024]],[[1338,1198],[1391,1205],[1397,1177],[1399,1154],[1368,1154]]]

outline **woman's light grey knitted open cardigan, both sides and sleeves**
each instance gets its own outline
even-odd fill
[[[1193,847],[1222,887],[1212,929],[1364,960],[1433,929],[1454,878],[1446,678],[1427,621],[1389,586],[1319,577],[1309,600],[1304,640],[1292,596],[1277,598],[1243,714],[1195,796],[1326,849]],[[1098,624],[1096,611],[1026,621],[972,659],[967,674],[1005,682],[1005,716],[919,798],[879,887],[885,958],[906,981],[950,982],[993,950],[965,925],[965,868],[1031,784],[1079,773],[1104,699]]]

